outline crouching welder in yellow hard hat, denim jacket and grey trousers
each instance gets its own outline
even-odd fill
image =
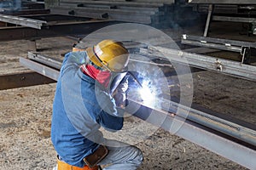
[[[121,42],[103,40],[65,55],[56,85],[51,140],[58,170],[137,169],[136,146],[105,139],[100,127],[123,127],[129,53]]]

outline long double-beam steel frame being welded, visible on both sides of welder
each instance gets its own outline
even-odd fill
[[[60,68],[60,61],[55,61],[56,70],[52,70],[49,66],[45,65],[51,59],[38,54],[31,53],[29,55],[30,59],[37,60],[41,64],[38,64],[36,61],[20,58],[21,65],[25,65],[44,76],[57,80],[59,74],[57,68]],[[236,161],[244,167],[255,169],[256,129],[253,125],[241,126],[236,122],[230,122],[220,117],[209,115],[207,112],[191,109],[166,99],[162,100],[163,105],[161,109],[143,105],[143,103],[137,102],[134,99],[129,100],[130,104],[126,108],[128,113],[131,110],[134,111],[134,108],[139,108],[135,113],[133,112],[133,116],[158,126],[159,118],[164,118],[164,122],[160,123],[160,127],[166,131],[199,144],[231,161]],[[179,114],[177,114],[178,109]],[[185,116],[185,113],[188,111],[189,115]]]

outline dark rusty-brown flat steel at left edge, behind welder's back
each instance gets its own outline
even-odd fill
[[[41,84],[49,84],[53,81],[50,78],[44,77],[37,72],[24,72],[17,74],[8,74],[0,76],[0,90],[10,88],[23,88],[28,86],[35,86]]]

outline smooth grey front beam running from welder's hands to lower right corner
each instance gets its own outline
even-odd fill
[[[256,150],[247,148],[241,144],[225,139],[215,133],[209,132],[207,128],[201,127],[198,124],[184,120],[180,117],[173,117],[167,111],[154,110],[154,108],[148,108],[145,105],[139,104],[136,101],[130,99],[130,105],[132,107],[140,107],[139,110],[133,116],[137,116],[149,123],[158,125],[157,120],[160,117],[166,117],[165,121],[161,123],[160,127],[170,133],[174,133],[177,136],[187,139],[195,144],[201,145],[207,150],[217,153],[220,156],[235,161],[236,163],[255,169],[256,167]],[[129,112],[129,111],[128,111]],[[176,125],[182,125],[178,129]]]

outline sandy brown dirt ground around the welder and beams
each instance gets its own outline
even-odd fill
[[[65,54],[73,40],[65,37],[38,40],[39,52]],[[26,57],[26,40],[0,42],[0,74],[26,71],[18,57]],[[194,102],[220,113],[256,123],[256,82],[228,77],[210,71],[193,73]],[[50,141],[50,121],[55,83],[0,91],[0,169],[52,169],[55,150]],[[125,119],[124,131],[143,129],[133,138],[144,154],[141,170],[148,169],[246,169],[201,146],[152,127],[135,117]],[[152,131],[154,129],[154,131]],[[107,133],[108,138],[113,138]],[[119,138],[119,137],[117,137]],[[139,140],[137,140],[139,139]]]

